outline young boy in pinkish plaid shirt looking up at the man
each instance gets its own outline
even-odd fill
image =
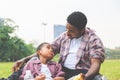
[[[19,80],[24,80],[26,70],[31,70],[34,80],[64,80],[64,72],[60,64],[50,61],[54,52],[49,43],[42,43],[37,48],[37,60],[29,61],[22,72]]]

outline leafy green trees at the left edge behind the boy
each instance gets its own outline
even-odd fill
[[[1,20],[0,20],[1,21]],[[0,22],[0,61],[16,61],[35,51],[33,44],[26,44],[22,39],[12,34],[18,27],[11,19]]]

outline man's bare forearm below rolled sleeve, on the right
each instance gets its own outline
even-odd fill
[[[97,58],[91,59],[91,67],[88,72],[85,74],[85,80],[90,80],[93,76],[99,73],[101,62]]]

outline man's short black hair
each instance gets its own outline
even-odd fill
[[[83,29],[87,24],[87,17],[82,12],[75,11],[67,17],[67,22],[78,29]]]

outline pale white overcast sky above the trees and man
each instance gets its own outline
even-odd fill
[[[0,17],[14,20],[16,34],[25,42],[39,44],[53,40],[54,24],[66,25],[70,13],[81,11],[104,46],[115,48],[120,47],[119,4],[120,0],[0,0]]]

